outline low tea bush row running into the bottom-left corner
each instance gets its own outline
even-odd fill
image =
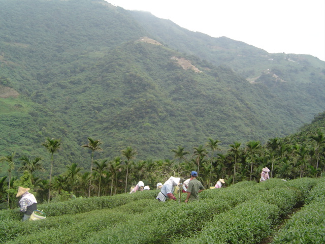
[[[146,205],[147,209],[153,211],[158,207],[158,202],[139,200],[126,205],[129,205],[129,209],[132,208],[131,206],[141,209],[140,206]],[[124,225],[125,222],[142,214],[140,211],[139,214],[131,215],[126,208],[94,210],[77,215],[63,215],[41,221],[23,222],[20,225],[17,225],[16,222],[17,226],[12,226],[10,234],[1,233],[0,243],[77,243],[89,234],[116,225]]]

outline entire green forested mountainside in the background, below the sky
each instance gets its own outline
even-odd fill
[[[325,62],[193,33],[105,1],[0,0],[0,156],[172,159],[207,138],[228,148],[294,133],[325,107]],[[45,163],[46,162],[46,163]],[[0,172],[2,174],[3,172]]]

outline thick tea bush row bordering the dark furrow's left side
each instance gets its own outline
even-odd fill
[[[285,186],[285,181],[268,183],[252,186],[258,195],[215,216],[197,237],[181,238],[175,243],[257,243],[266,238],[281,217],[293,210],[301,195],[298,188]]]

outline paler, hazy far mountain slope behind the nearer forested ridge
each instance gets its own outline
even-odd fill
[[[311,55],[270,54],[226,37],[212,38],[190,32],[148,12],[129,12],[159,42],[215,66],[226,65],[252,84],[265,85],[263,89],[280,101],[281,106],[295,108],[298,114],[290,115],[294,120],[310,121],[314,114],[323,111],[325,62],[318,58]],[[289,107],[287,109],[291,110]]]

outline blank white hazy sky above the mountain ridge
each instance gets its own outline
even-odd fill
[[[190,31],[228,37],[269,53],[325,60],[324,0],[106,0],[148,11]]]

